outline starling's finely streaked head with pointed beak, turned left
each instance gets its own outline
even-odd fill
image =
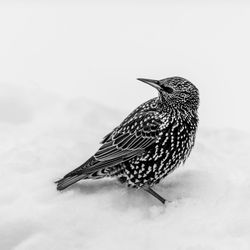
[[[160,100],[172,107],[186,107],[197,110],[199,106],[199,91],[190,81],[174,76],[162,80],[137,78],[159,91]]]

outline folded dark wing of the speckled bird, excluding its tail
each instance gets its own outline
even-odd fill
[[[96,160],[95,164],[88,165],[82,170],[92,172],[115,166],[140,155],[156,141],[161,124],[159,113],[155,111],[141,112],[125,120],[112,133],[104,137],[103,145],[93,156]]]

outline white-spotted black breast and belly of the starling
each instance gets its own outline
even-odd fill
[[[196,113],[161,110],[159,107],[154,112],[161,120],[155,142],[143,154],[122,163],[123,168],[119,170],[123,182],[132,187],[157,184],[186,160],[194,145]]]

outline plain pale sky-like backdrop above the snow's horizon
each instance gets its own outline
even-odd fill
[[[156,93],[137,77],[183,76],[201,126],[248,130],[247,1],[1,1],[0,83],[131,111]]]

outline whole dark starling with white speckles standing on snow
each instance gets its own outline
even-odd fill
[[[163,204],[153,187],[188,158],[198,127],[198,88],[179,76],[137,78],[158,91],[101,141],[97,152],[56,182],[61,191],[83,179],[116,178]]]

